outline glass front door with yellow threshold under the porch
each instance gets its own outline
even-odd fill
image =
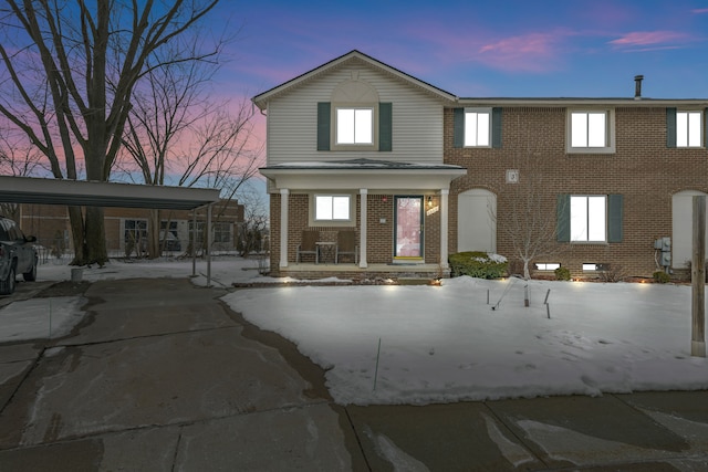
[[[396,259],[423,259],[423,196],[396,197]]]

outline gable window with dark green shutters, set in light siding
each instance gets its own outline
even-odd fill
[[[393,149],[393,105],[317,103],[317,150]]]

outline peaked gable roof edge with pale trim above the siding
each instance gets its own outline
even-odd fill
[[[268,102],[270,99],[272,99],[273,97],[283,94],[305,82],[311,81],[312,78],[315,78],[317,76],[321,76],[323,74],[326,74],[327,72],[342,66],[343,64],[347,64],[347,63],[355,63],[355,62],[360,62],[360,63],[364,63],[366,65],[369,65],[374,69],[377,69],[379,71],[383,71],[384,73],[387,73],[388,75],[392,75],[394,77],[397,77],[404,82],[407,82],[418,88],[424,90],[425,92],[436,95],[439,98],[442,98],[445,101],[456,101],[457,96],[444,91],[442,88],[438,88],[435,85],[430,85],[427,82],[420,81],[419,78],[414,77],[413,75],[406,74],[405,72],[402,72],[395,67],[392,67],[388,64],[385,64],[381,61],[375,60],[374,57],[364,54],[363,52],[360,52],[357,50],[353,50],[351,52],[347,52],[344,55],[341,55],[336,59],[333,59],[332,61],[313,69],[312,71],[305,72],[304,74],[298,75],[296,77],[281,84],[278,85],[269,91],[266,91],[259,95],[256,95],[253,98],[251,98],[251,101],[253,102],[253,104],[256,104],[256,106],[258,106],[260,109],[266,109],[266,106],[268,104]]]

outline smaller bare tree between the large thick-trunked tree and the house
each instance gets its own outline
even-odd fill
[[[126,175],[138,174],[149,185],[219,188],[228,201],[257,174],[262,149],[253,139],[253,108],[243,101],[230,111],[230,103],[210,101],[212,71],[205,64],[173,64],[148,75],[128,116],[121,161]],[[216,207],[215,221],[227,207]],[[160,212],[153,211],[150,258],[162,253],[160,221]]]

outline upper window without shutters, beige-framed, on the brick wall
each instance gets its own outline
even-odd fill
[[[568,113],[568,153],[614,153],[614,113],[572,109]]]

